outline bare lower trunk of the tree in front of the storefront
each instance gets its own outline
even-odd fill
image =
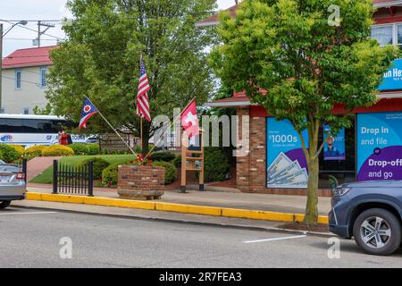
[[[303,223],[316,224],[318,222],[318,175],[319,161],[317,156],[308,162],[307,204]]]

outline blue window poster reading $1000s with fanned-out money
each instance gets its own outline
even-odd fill
[[[267,188],[307,188],[306,156],[297,131],[289,120],[266,119]],[[308,132],[303,132],[308,146]]]

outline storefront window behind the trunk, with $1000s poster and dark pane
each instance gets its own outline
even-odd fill
[[[355,115],[350,115],[355,122]],[[266,187],[269,189],[306,189],[308,168],[301,142],[292,124],[267,117],[267,170]],[[348,129],[339,131],[337,136],[329,136],[330,126],[322,126],[319,145],[327,143],[320,154],[320,189],[330,187],[330,178],[339,183],[356,181],[356,134],[355,123]],[[324,135],[325,134],[325,135]],[[308,134],[303,132],[306,145]]]

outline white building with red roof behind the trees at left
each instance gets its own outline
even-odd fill
[[[19,49],[4,58],[1,113],[33,114],[34,106],[46,106],[46,72],[54,47]]]

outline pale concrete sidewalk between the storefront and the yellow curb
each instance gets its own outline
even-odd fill
[[[51,185],[28,184],[28,191],[52,192]],[[119,198],[116,189],[94,188],[96,197]],[[195,206],[219,206],[247,210],[261,210],[281,213],[304,214],[306,197],[269,194],[230,193],[218,191],[197,191],[189,189],[182,194],[178,190],[167,190],[156,202]],[[320,197],[318,213],[327,215],[331,209],[331,198]]]

